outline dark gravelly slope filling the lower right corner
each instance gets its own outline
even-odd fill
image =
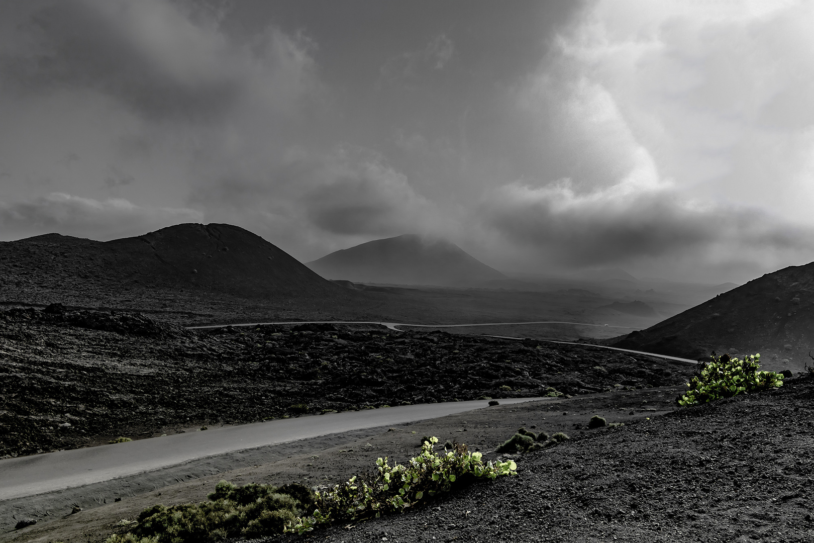
[[[519,475],[265,541],[814,541],[814,377],[517,460]]]

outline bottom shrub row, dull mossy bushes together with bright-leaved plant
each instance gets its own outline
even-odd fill
[[[301,484],[274,487],[247,484],[236,487],[222,480],[210,501],[165,507],[153,506],[138,515],[128,533],[105,543],[194,543],[234,537],[261,537],[283,532],[310,532],[321,524],[378,518],[400,512],[453,485],[499,475],[517,475],[514,462],[483,462],[465,444],[435,453],[437,437],[429,437],[422,451],[405,465],[376,461],[373,475],[352,477],[324,493]]]

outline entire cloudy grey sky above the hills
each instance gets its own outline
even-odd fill
[[[225,222],[508,274],[814,261],[814,3],[7,0],[0,240]]]

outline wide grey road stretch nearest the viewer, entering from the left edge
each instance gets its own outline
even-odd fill
[[[501,405],[556,398],[505,398]],[[213,428],[0,460],[0,501],[75,488],[270,444],[387,427],[488,407],[487,400],[400,405]]]

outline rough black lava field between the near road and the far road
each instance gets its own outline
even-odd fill
[[[0,457],[327,410],[681,384],[679,362],[445,332],[190,331],[138,313],[0,312]]]

